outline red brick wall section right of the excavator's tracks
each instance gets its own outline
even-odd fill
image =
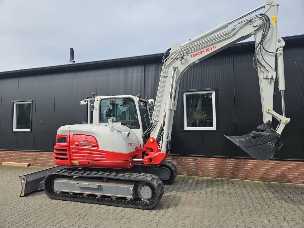
[[[178,174],[304,184],[304,162],[169,156]]]

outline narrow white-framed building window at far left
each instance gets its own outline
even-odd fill
[[[32,101],[14,102],[13,131],[30,131]]]

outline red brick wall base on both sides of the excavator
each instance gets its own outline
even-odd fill
[[[304,162],[178,156],[167,160],[176,165],[181,175],[304,184]],[[0,163],[3,161],[55,165],[53,152],[0,151]]]

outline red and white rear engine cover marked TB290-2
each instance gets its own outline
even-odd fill
[[[130,168],[138,145],[126,126],[115,125],[111,132],[108,124],[67,125],[57,131],[54,161],[61,166]]]

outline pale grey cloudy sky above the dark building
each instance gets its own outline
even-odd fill
[[[276,0],[281,36],[304,34],[304,0]],[[0,0],[0,71],[167,50],[264,0]],[[253,40],[251,37],[250,40]]]

